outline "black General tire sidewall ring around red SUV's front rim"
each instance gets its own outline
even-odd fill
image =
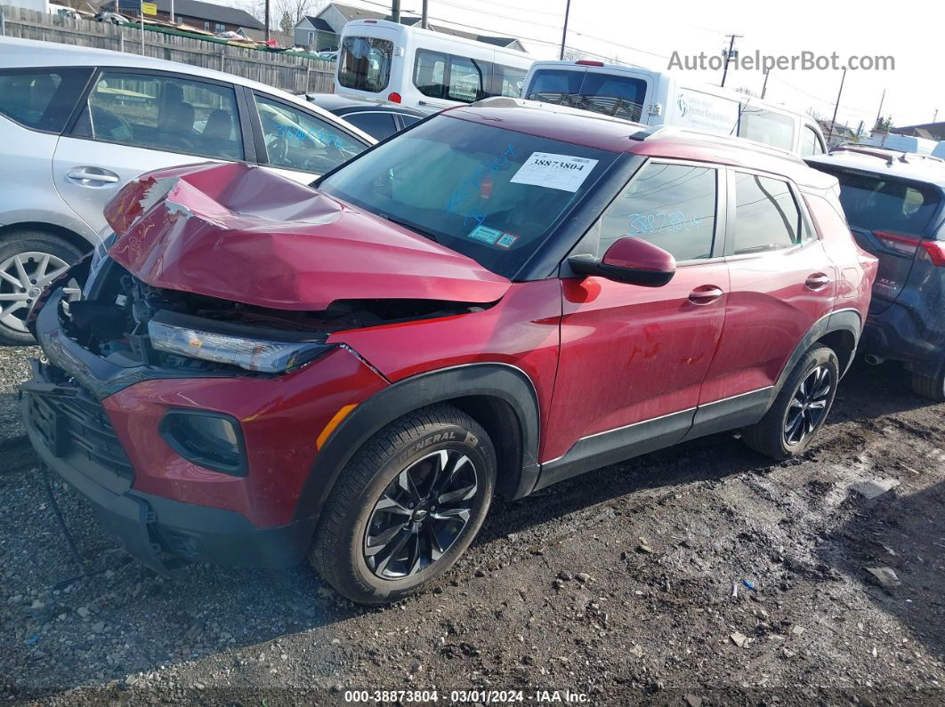
[[[438,426],[435,430],[424,430],[423,434],[398,446],[394,454],[377,469],[368,485],[358,495],[353,508],[345,512],[345,521],[350,523],[349,527],[352,528],[345,547],[345,564],[348,565],[345,574],[350,575],[353,587],[361,591],[369,588],[377,597],[376,600],[392,601],[405,597],[446,572],[469,547],[489,512],[495,487],[495,452],[485,432],[477,425],[474,428],[464,429],[459,425],[447,424]],[[364,537],[370,513],[390,481],[404,468],[440,449],[458,449],[469,456],[475,465],[479,490],[472,506],[470,521],[435,564],[403,580],[381,579],[374,575],[364,558]]]

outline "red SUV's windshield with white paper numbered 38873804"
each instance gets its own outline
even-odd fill
[[[318,189],[512,278],[614,153],[440,115]]]

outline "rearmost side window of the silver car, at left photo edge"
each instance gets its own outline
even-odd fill
[[[0,113],[22,126],[61,132],[92,67],[0,69]]]

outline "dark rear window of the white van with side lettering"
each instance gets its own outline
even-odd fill
[[[572,69],[539,69],[525,98],[640,121],[646,96],[642,78]]]

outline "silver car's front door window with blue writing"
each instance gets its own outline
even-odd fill
[[[269,164],[324,174],[367,145],[304,110],[256,94]]]

